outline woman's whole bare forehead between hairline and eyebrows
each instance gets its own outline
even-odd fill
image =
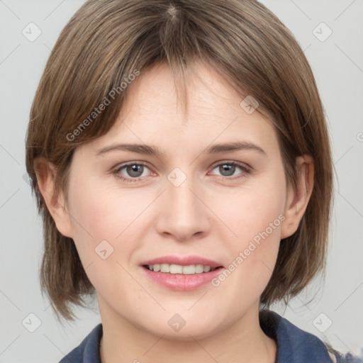
[[[128,142],[184,150],[216,143],[277,146],[272,123],[258,111],[247,113],[240,96],[212,67],[195,63],[186,72],[187,108],[181,108],[172,72],[158,64],[128,86],[125,103],[111,130],[92,143]]]

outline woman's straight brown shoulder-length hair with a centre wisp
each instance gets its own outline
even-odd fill
[[[26,140],[26,167],[44,223],[40,282],[58,318],[60,313],[74,320],[69,303],[84,306],[94,287],[73,240],[58,232],[45,206],[35,159],[55,164],[56,191],[67,195],[74,149],[113,126],[128,92],[121,84],[130,74],[167,62],[177,89],[185,94],[184,71],[194,60],[213,65],[241,101],[247,94],[258,100],[258,111],[277,129],[286,181],[296,186],[298,155],[314,160],[306,213],[296,233],[281,240],[261,303],[287,302],[323,270],[333,189],[330,142],[311,67],[291,32],[253,0],[89,0],[67,23],[50,54]],[[111,104],[93,114],[115,89]]]

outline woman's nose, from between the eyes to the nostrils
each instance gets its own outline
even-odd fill
[[[188,240],[208,230],[208,208],[203,205],[196,178],[175,168],[167,176],[162,212],[157,223],[160,233]],[[165,200],[166,199],[166,200]]]

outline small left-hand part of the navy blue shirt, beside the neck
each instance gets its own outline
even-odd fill
[[[59,363],[101,363],[99,342],[103,334],[102,324],[96,325],[78,347],[63,357]]]

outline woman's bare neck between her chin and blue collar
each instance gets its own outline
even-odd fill
[[[101,363],[274,363],[277,345],[259,326],[258,302],[218,333],[188,340],[166,339],[132,325],[99,299]]]

